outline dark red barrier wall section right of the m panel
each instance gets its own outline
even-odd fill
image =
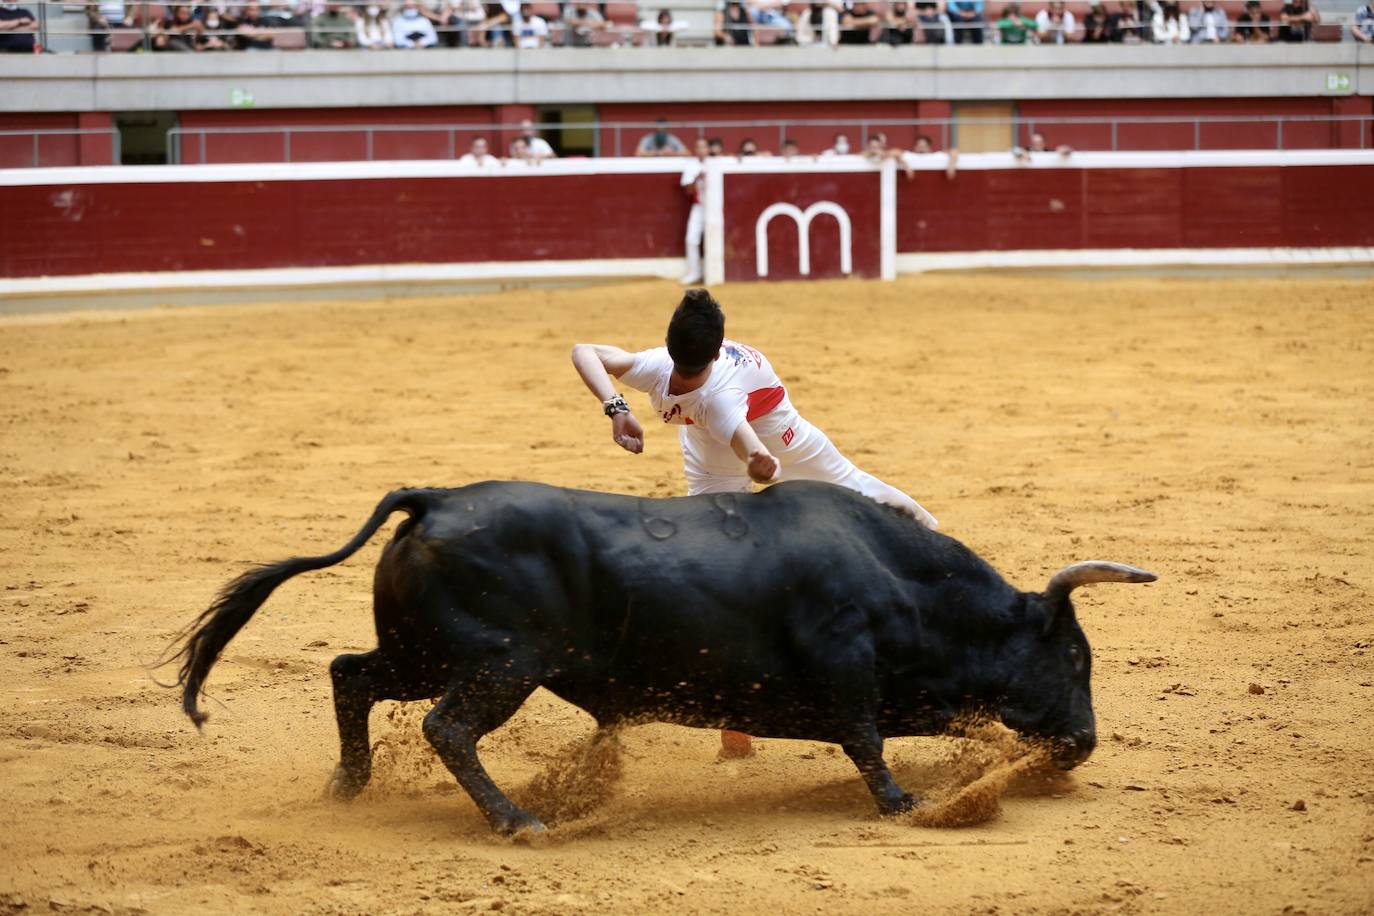
[[[1374,244],[1374,166],[918,172],[897,251]]]

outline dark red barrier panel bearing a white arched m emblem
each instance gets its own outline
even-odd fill
[[[758,216],[772,203],[793,203],[801,210],[818,201],[838,203],[849,214],[855,276],[877,277],[882,271],[879,244],[879,185],[877,172],[840,174],[727,174],[725,176],[725,279],[757,280]],[[768,224],[768,279],[796,280],[800,239],[797,222],[776,216]],[[809,279],[840,277],[840,224],[833,216],[811,221]]]

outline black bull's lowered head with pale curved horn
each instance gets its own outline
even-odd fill
[[[1051,759],[1073,769],[1098,744],[1092,715],[1092,655],[1069,593],[1090,582],[1153,582],[1154,573],[1088,560],[1054,574],[1044,592],[1026,593],[1025,625],[1011,637],[1011,677],[1002,721],[1026,737],[1050,742]]]

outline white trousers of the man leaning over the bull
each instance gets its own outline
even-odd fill
[[[778,416],[778,415],[782,416]],[[782,466],[779,481],[824,481],[863,493],[864,496],[893,505],[915,518],[926,527],[936,527],[936,516],[919,503],[883,483],[872,474],[859,470],[846,459],[835,444],[822,430],[816,428],[793,411],[774,411],[753,423],[754,431],[768,450]],[[687,475],[687,493],[749,493],[753,481],[739,463],[734,449],[712,439],[708,434],[690,426],[679,427],[679,441],[683,446],[683,471]]]

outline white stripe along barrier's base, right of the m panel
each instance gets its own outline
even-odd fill
[[[1374,264],[1374,249],[1057,249],[897,254],[897,273],[988,268],[1256,266]]]

